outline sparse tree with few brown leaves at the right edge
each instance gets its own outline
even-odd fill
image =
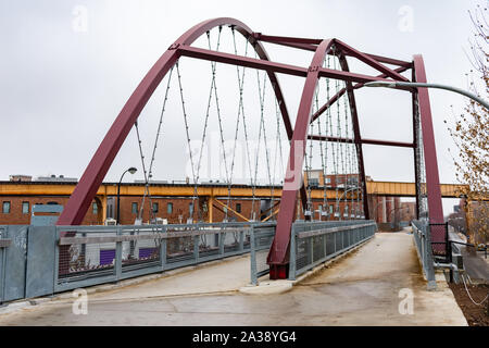
[[[473,23],[473,36],[468,39],[466,52],[473,69],[466,74],[468,89],[488,99],[489,96],[489,26],[487,21],[489,1],[468,11]],[[466,198],[467,227],[471,240],[485,243],[489,229],[489,111],[474,100],[467,101],[464,112],[455,115],[455,123],[449,126],[456,153],[452,152],[456,178],[466,185],[461,192]],[[474,209],[472,208],[474,207]],[[473,210],[473,211],[471,211]],[[477,214],[474,212],[477,211]],[[477,215],[477,217],[475,216]]]

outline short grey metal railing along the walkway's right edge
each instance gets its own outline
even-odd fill
[[[428,290],[437,288],[435,265],[432,260],[431,236],[428,222],[415,220],[412,222],[413,236],[416,244],[417,257],[422,263],[423,274],[428,281]]]

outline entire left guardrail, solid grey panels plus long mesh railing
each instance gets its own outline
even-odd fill
[[[0,303],[247,253],[252,225],[0,226]]]

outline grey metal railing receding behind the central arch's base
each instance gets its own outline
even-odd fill
[[[296,222],[290,244],[289,279],[372,238],[374,221]]]

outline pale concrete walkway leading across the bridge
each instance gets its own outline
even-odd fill
[[[89,295],[86,315],[55,300],[0,315],[0,325],[466,325],[443,282],[426,290],[405,233],[377,234],[285,294],[237,291],[248,283],[249,260],[240,257]],[[405,294],[412,314],[399,312]]]

